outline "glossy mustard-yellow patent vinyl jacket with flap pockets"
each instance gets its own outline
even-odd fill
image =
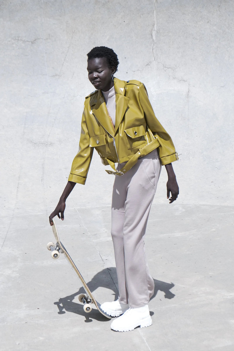
[[[156,119],[145,86],[137,81],[114,79],[115,128],[105,99],[96,90],[85,99],[78,154],[68,180],[85,184],[94,148],[104,165],[122,163],[158,148],[162,165],[178,159],[171,137]],[[134,162],[135,163],[135,162]],[[125,171],[125,170],[124,170]]]

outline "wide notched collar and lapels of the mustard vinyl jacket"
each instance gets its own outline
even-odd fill
[[[99,120],[105,130],[111,135],[113,135],[113,133],[114,135],[117,133],[119,125],[127,110],[129,101],[129,99],[125,96],[126,82],[124,80],[114,78],[114,87],[116,101],[115,129],[113,128],[111,119],[109,118],[105,99],[102,95],[101,90],[98,90],[97,93],[91,95],[89,102],[90,106],[92,107],[93,114]]]

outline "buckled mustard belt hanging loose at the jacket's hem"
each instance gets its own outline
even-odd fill
[[[159,146],[158,140],[155,139],[154,141],[152,141],[148,145],[142,147],[141,149],[139,149],[138,152],[136,152],[131,157],[131,159],[129,161],[127,161],[127,163],[119,171],[116,171],[114,162],[108,160],[108,158],[105,158],[107,160],[108,164],[114,170],[114,171],[109,171],[109,170],[105,170],[105,171],[108,174],[114,174],[114,176],[123,176],[123,174],[125,174],[127,171],[131,170],[131,168],[137,163],[139,157],[143,157],[143,156],[147,155],[151,151],[155,150],[155,148],[157,148],[158,146]]]

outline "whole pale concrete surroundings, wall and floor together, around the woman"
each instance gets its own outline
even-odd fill
[[[233,18],[233,0],[0,0],[0,350],[234,350]],[[146,85],[180,159],[178,200],[163,170],[147,227],[153,325],[127,333],[83,311],[72,268],[46,249],[101,45],[117,78]],[[55,219],[100,303],[118,294],[113,180],[95,152]]]

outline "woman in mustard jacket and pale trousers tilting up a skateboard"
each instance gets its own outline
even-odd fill
[[[88,78],[96,90],[86,97],[79,152],[49,221],[53,225],[56,215],[64,219],[65,201],[76,183],[85,184],[95,148],[102,163],[113,168],[106,171],[115,175],[111,234],[119,298],[103,303],[101,308],[112,317],[122,314],[112,322],[111,329],[129,331],[152,324],[148,302],[154,293],[154,280],[149,274],[143,238],[161,165],[168,173],[169,203],[178,197],[171,164],[178,157],[170,136],[154,115],[145,86],[114,77],[119,64],[114,51],[100,46],[87,56]]]

